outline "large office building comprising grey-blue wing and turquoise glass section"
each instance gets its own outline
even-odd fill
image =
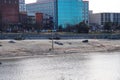
[[[88,23],[88,1],[82,0],[37,0],[27,4],[28,13],[43,13],[43,18],[53,17],[54,29],[75,25],[82,21]]]

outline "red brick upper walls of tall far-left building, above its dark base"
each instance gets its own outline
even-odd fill
[[[19,0],[0,0],[0,23],[19,23]]]

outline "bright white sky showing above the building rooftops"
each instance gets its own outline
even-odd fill
[[[35,1],[26,0],[26,3]],[[89,0],[89,10],[93,10],[94,13],[120,12],[120,0]]]

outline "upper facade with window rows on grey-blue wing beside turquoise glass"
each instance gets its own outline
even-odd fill
[[[44,18],[49,16],[55,16],[55,2],[54,1],[42,1],[37,3],[31,3],[26,5],[28,14],[43,13]]]

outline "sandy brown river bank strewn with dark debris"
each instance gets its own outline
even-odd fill
[[[54,40],[54,51],[51,40],[0,40],[0,58],[120,51],[120,40],[89,39],[88,43],[82,40]]]

